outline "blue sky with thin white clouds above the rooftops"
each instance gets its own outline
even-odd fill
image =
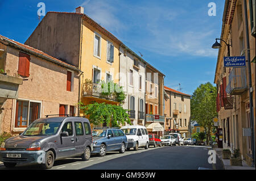
[[[0,0],[0,34],[24,43],[40,19],[38,3],[46,12],[84,13],[166,77],[164,85],[193,94],[201,83],[214,81],[221,35],[223,0]],[[208,11],[215,3],[216,15]]]

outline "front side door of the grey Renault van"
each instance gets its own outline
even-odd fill
[[[69,157],[75,154],[75,133],[72,121],[64,123],[63,127],[61,128],[60,134],[63,132],[67,132],[68,136],[59,135],[60,142],[57,145],[56,158]]]

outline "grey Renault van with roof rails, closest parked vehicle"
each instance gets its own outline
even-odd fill
[[[83,117],[46,117],[35,120],[19,136],[1,145],[0,161],[6,167],[16,163],[40,163],[50,169],[58,159],[80,156],[88,160],[93,150],[89,120]]]

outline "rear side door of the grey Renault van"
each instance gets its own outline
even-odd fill
[[[81,121],[75,121],[75,148],[76,154],[84,153],[85,151],[85,136],[84,136],[84,127]]]

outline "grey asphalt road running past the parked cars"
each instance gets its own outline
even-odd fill
[[[51,170],[204,170],[223,169],[216,155],[216,163],[208,163],[208,151],[205,146],[162,146],[138,151],[129,150],[120,154],[112,151],[99,157],[91,155],[89,161],[81,158],[67,158],[56,161]],[[0,165],[0,170],[5,170]],[[40,165],[18,164],[13,170],[39,170]]]

